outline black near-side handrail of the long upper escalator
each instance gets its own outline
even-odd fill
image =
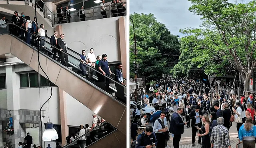
[[[2,25],[0,25],[0,26],[4,26],[4,25],[8,25],[8,26],[9,26],[9,25],[14,25],[14,26],[17,26],[18,28],[22,29],[24,32],[27,32],[24,28],[21,28],[20,26],[18,26],[18,25],[16,25],[16,24],[6,23],[6,24],[2,24]],[[28,33],[31,34],[32,36],[37,37],[35,34],[32,34],[31,32],[28,32]],[[44,42],[48,43],[49,45],[51,45],[51,46],[54,47],[55,49],[58,49],[58,47],[52,45],[51,43],[49,43],[49,42],[46,41],[45,39],[43,39],[43,38],[41,38],[41,37],[39,37],[39,39],[44,40]],[[77,59],[77,58],[74,57],[73,55],[70,55],[69,53],[66,53],[66,52],[64,52],[64,51],[61,51],[60,49],[58,49],[58,51],[59,51],[59,52],[62,52],[62,53],[64,53],[64,54],[67,54],[68,56],[73,57],[74,59]],[[78,59],[77,59],[77,60],[78,60]],[[78,60],[78,61],[79,61],[79,60]],[[82,63],[82,62],[80,61],[80,63]],[[82,64],[84,64],[84,63],[82,63]],[[90,65],[87,65],[87,64],[84,64],[84,65],[89,66],[89,67],[92,68],[92,69],[94,68],[94,67],[92,67],[92,66],[90,66]],[[96,72],[100,73],[99,71],[96,71]],[[100,73],[100,75],[103,75],[103,74]],[[108,76],[108,75],[103,75],[103,76],[104,76],[104,77],[107,77],[108,79],[111,79],[112,81],[114,81],[114,82],[117,83],[118,85],[120,85],[120,86],[126,88],[126,85],[122,85],[121,83],[119,83],[119,82],[117,82],[116,80],[114,80],[112,77],[110,77],[110,76]]]

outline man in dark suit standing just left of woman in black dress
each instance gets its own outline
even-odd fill
[[[200,106],[196,105],[195,109],[193,111],[190,112],[189,118],[192,119],[191,120],[191,126],[192,126],[192,146],[195,146],[195,141],[196,141],[196,132],[198,132],[199,134],[202,133],[201,130],[197,130],[195,126],[201,127],[202,126],[202,122],[201,122],[201,118],[202,118],[202,111],[200,110]],[[201,142],[201,137],[198,137],[198,143],[202,144]]]

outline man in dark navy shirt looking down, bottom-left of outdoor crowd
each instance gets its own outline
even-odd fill
[[[137,137],[135,148],[152,148],[157,145],[156,135],[151,126],[146,127],[146,130]]]

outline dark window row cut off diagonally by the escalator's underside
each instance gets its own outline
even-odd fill
[[[1,80],[0,83],[2,84]],[[50,83],[51,86],[56,86],[54,83]],[[39,87],[39,85],[40,87],[50,87],[48,80],[42,75],[40,75],[40,82],[38,81],[38,73],[33,72],[20,74],[20,88]]]

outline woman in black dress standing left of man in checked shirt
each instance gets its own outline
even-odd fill
[[[207,114],[204,114],[202,116],[202,127],[198,128],[199,130],[202,130],[202,134],[198,133],[198,136],[202,137],[202,148],[211,148],[211,142],[210,142],[210,121]]]

